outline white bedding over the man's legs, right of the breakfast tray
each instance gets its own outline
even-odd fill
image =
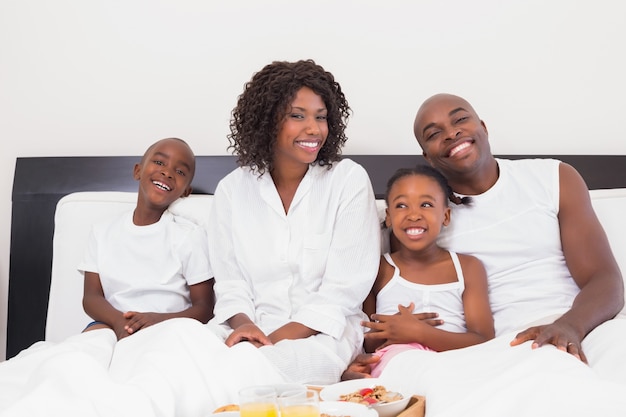
[[[620,321],[623,332],[626,321]],[[624,348],[614,350],[621,357],[611,360],[618,383],[553,346],[510,347],[513,336],[457,351],[403,352],[381,379],[401,381],[403,389],[425,395],[429,417],[626,415]],[[587,354],[595,359],[602,352]]]

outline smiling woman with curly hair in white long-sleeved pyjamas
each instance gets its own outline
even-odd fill
[[[291,382],[338,381],[362,345],[380,229],[367,173],[341,159],[349,113],[315,62],[265,66],[233,111],[240,167],[215,192],[212,323],[228,346],[259,347]]]

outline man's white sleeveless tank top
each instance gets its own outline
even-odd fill
[[[559,161],[498,159],[500,176],[472,203],[451,205],[439,244],[487,270],[496,335],[567,311],[579,288],[559,229]],[[580,237],[584,239],[584,236]]]

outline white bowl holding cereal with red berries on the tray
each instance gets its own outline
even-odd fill
[[[376,410],[380,417],[395,417],[406,408],[411,399],[411,394],[403,392],[389,381],[383,381],[378,378],[353,379],[329,385],[320,391],[320,398],[324,401],[340,401],[342,395],[350,394],[363,388],[374,388],[376,385],[382,385],[387,391],[398,392],[402,395],[402,398],[397,401],[372,404],[370,407]]]

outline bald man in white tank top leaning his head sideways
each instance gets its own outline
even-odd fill
[[[513,331],[511,346],[532,340],[533,348],[554,345],[588,362],[583,339],[623,308],[624,287],[580,174],[555,160],[494,158],[485,123],[450,94],[422,104],[414,133],[455,193],[472,198],[470,206],[453,206],[440,244],[485,264],[496,335]],[[614,322],[625,334],[626,321]],[[616,332],[599,333],[604,344]],[[608,360],[596,356],[592,367]],[[360,355],[342,379],[368,376],[375,361]]]

